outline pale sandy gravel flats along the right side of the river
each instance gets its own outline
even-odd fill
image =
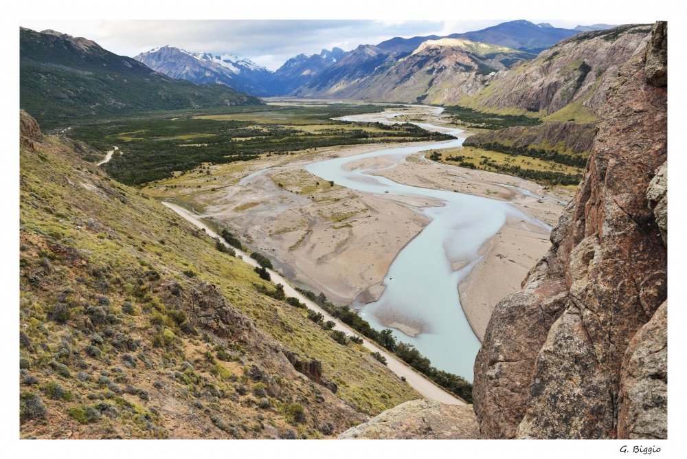
[[[565,189],[545,189],[532,181],[508,175],[470,170],[440,164],[423,158],[424,154],[407,157],[395,168],[383,159],[358,161],[360,168],[376,168],[381,175],[398,183],[423,188],[453,190],[473,196],[507,201],[526,216],[554,226],[563,211],[564,202],[572,199]],[[348,168],[354,168],[350,164]],[[477,337],[482,341],[494,306],[509,293],[519,290],[528,271],[550,247],[549,231],[541,226],[509,218],[499,232],[488,239],[478,252],[482,256],[468,276],[458,284],[460,304]],[[453,262],[453,269],[465,263]],[[413,324],[398,326],[398,317],[387,317],[388,326],[396,326],[409,336],[418,333]],[[401,321],[402,322],[402,321]],[[410,332],[410,333],[409,333]]]

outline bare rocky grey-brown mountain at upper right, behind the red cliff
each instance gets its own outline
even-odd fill
[[[649,39],[651,25],[582,32],[520,65],[458,104],[480,111],[592,122],[618,69]]]

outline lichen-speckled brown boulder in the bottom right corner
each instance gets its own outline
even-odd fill
[[[618,438],[668,438],[668,302],[632,338],[622,363]]]

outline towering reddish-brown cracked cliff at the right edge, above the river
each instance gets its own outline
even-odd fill
[[[646,391],[634,382],[657,370],[640,357],[622,368],[626,351],[649,352],[628,346],[668,292],[666,246],[646,197],[667,157],[667,91],[646,81],[644,56],[635,53],[611,84],[550,251],[491,317],[473,390],[487,438],[616,438],[623,399],[627,429],[660,432],[643,421],[660,418],[660,401],[643,414],[636,400]]]

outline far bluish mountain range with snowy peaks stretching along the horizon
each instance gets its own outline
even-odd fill
[[[607,26],[600,24],[588,27]],[[349,52],[334,48],[332,51],[323,49],[320,54],[313,54],[313,56],[299,54],[287,60],[274,72],[256,66],[249,60],[239,60],[231,55],[229,55],[231,56],[229,65],[223,65],[223,56],[190,53],[169,46],[144,52],[135,56],[135,59],[173,78],[184,78],[199,83],[223,83],[255,96],[335,95],[339,97],[338,93],[341,92],[342,97],[357,97],[354,93],[358,89],[348,89],[352,82],[359,87],[361,86],[358,84],[359,80],[363,78],[382,76],[384,71],[392,65],[401,63],[407,56],[416,54],[418,49],[423,47],[423,43],[447,43],[447,39],[460,43],[473,43],[472,48],[462,46],[464,51],[472,53],[464,56],[465,64],[477,69],[479,74],[489,74],[492,71],[510,67],[521,60],[532,59],[543,49],[579,32],[580,30],[562,29],[548,24],[537,25],[530,21],[510,21],[487,27],[484,30],[447,36],[395,37],[377,45],[359,45]],[[478,49],[480,43],[486,46]],[[451,59],[451,57],[448,58]],[[498,63],[493,61],[498,61]],[[435,67],[435,70],[441,65]],[[403,80],[404,76],[399,78]],[[431,78],[425,80],[429,79]],[[471,91],[467,91],[468,93],[474,93],[484,86],[482,78],[469,78],[469,80],[474,82],[475,86]],[[388,85],[385,86],[388,87]],[[418,96],[422,94],[417,94],[415,98],[412,98],[412,102],[416,102]],[[366,91],[363,91],[361,97],[374,99],[374,95]],[[394,98],[389,96],[385,100],[394,100]],[[407,102],[406,98],[398,100]]]

